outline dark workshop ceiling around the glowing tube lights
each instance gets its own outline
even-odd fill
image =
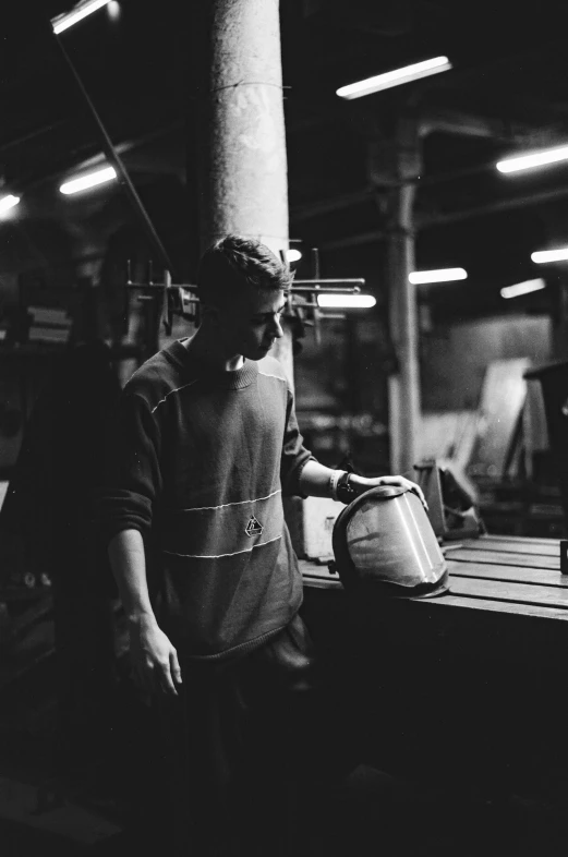
[[[19,193],[0,224],[0,276],[57,253],[101,252],[129,217],[117,186],[64,198],[77,168],[104,161],[100,141],[49,20],[72,4],[29,0],[3,20],[0,181]],[[60,36],[158,231],[184,277],[198,252],[195,221],[191,4],[120,0]],[[543,276],[530,254],[568,244],[568,166],[504,177],[503,157],[568,144],[565,2],[283,0],[290,234],[319,246],[327,273],[380,288],[384,197],[392,176],[370,169],[400,117],[420,132],[419,268],[460,265],[469,279],[444,304],[492,311],[498,288]],[[445,55],[452,69],[358,101],[336,89]],[[383,147],[383,148],[380,148]],[[57,261],[57,259],[55,259]],[[363,270],[358,269],[363,268]],[[549,268],[546,276],[561,276]],[[449,295],[449,297],[448,297]],[[434,295],[435,299],[435,295]],[[530,299],[536,302],[542,297]]]

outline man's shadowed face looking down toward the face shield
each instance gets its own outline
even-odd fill
[[[280,315],[286,306],[280,289],[249,287],[238,303],[219,313],[219,328],[227,357],[242,354],[250,360],[262,360],[275,339],[283,336]]]

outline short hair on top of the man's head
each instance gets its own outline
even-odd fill
[[[228,234],[203,254],[197,269],[197,295],[204,303],[237,298],[243,287],[288,290],[292,274],[261,241]]]

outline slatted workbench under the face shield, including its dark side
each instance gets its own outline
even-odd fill
[[[325,565],[300,564],[304,618],[341,654],[370,758],[460,787],[568,794],[559,541],[483,535],[444,551],[449,592],[435,599],[348,595]]]

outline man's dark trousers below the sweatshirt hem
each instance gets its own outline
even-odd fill
[[[164,852],[292,853],[319,823],[325,793],[354,767],[301,618],[240,660],[185,662],[182,675],[159,717]]]

